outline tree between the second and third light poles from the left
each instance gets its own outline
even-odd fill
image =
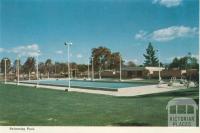
[[[35,58],[28,57],[23,65],[23,70],[25,71],[25,73],[29,74],[29,79],[30,79],[30,73],[35,71],[35,64],[36,64]]]

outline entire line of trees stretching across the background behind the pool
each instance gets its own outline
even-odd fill
[[[143,54],[145,61],[143,65],[140,66],[159,66],[159,60],[156,56],[157,50],[154,49],[153,45],[149,43],[146,53]],[[110,49],[106,47],[98,47],[92,49],[92,55],[90,58],[90,69],[92,67],[92,62],[94,65],[94,71],[101,72],[103,70],[119,70],[121,55],[119,52],[112,52]],[[18,63],[20,66],[20,73],[31,73],[36,71],[36,59],[34,57],[28,57],[24,64],[21,64],[20,60],[15,60],[13,65],[11,65],[11,60],[8,58],[3,58],[1,60],[1,72],[5,71],[5,59],[6,59],[6,67],[7,72],[15,71]],[[127,64],[124,64],[124,61],[121,60],[123,66],[136,66],[136,64],[132,61],[129,61]],[[161,66],[164,66],[160,63]],[[67,63],[55,62],[51,59],[47,59],[45,62],[39,63],[39,72],[44,74],[61,74],[67,73],[68,66]],[[75,62],[70,63],[70,67],[72,70],[78,70],[79,72],[86,72],[88,70],[87,64],[76,64]],[[190,68],[199,68],[198,61],[195,57],[191,57],[191,54],[177,58],[175,57],[172,63],[165,65],[167,68],[178,68],[178,69],[190,69]],[[101,75],[99,75],[101,76]]]

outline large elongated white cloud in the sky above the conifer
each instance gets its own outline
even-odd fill
[[[186,27],[186,26],[171,26],[168,28],[158,29],[152,33],[145,31],[139,31],[135,35],[135,39],[139,40],[155,40],[155,41],[170,41],[181,37],[191,37],[198,34],[198,28]]]

